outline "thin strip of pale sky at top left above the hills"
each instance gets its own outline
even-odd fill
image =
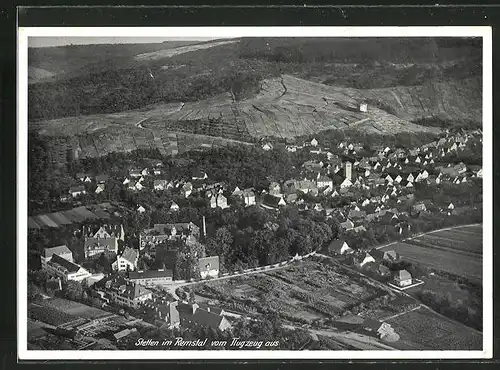
[[[31,48],[90,45],[90,44],[141,44],[160,43],[164,41],[209,41],[213,37],[29,37],[28,46]]]

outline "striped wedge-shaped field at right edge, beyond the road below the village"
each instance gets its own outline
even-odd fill
[[[427,234],[383,250],[395,250],[405,260],[480,282],[482,248],[482,227],[464,227]]]

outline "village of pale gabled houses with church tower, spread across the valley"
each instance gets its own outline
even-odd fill
[[[370,148],[370,156],[364,156],[367,150],[363,145],[349,141],[340,142],[335,150],[320,145],[316,138],[300,145],[288,144],[285,150],[289,155],[306,153],[309,159],[299,169],[299,177],[281,182],[271,177],[266,189],[229,188],[223,181],[212,179],[203,169],[192,173],[190,178],[169,178],[161,160],[152,160],[147,168],[130,168],[128,174],[118,180],[123,191],[134,194],[168,191],[178,199],[198,195],[205,199],[206,209],[229,210],[238,203],[244,208],[260,207],[274,216],[289,207],[299,213],[313,213],[314,217],[335,226],[338,233],[321,248],[310,251],[308,256],[316,253],[341,256],[341,263],[385,276],[388,286],[404,291],[423,282],[405,269],[391,271],[384,263],[399,261],[404,255],[393,250],[379,250],[376,245],[362,242],[360,235],[383,226],[384,232],[392,238],[388,241],[403,239],[422,231],[414,230],[412,225],[414,220],[426,215],[453,218],[469,212],[471,205],[466,199],[455,197],[447,201],[445,196],[437,202],[432,197],[424,199],[419,189],[480,186],[481,166],[449,159],[456,158],[471,146],[481,146],[481,135],[479,130],[447,133],[416,148],[376,146]],[[270,152],[279,146],[266,141],[261,144],[261,150]],[[109,179],[107,173],[78,173],[74,186],[60,199],[72,204],[73,208],[28,219],[33,232],[68,225],[76,227],[75,235],[83,244],[83,254],[78,255],[78,261],[68,246],[46,245],[40,256],[40,268],[50,277],[48,283],[55,291],[64,290],[63,286],[70,282],[83,284],[98,308],[108,312],[94,319],[64,322],[62,327],[70,329],[72,341],[75,333],[86,338],[95,336],[106,320],[115,319],[122,322],[110,325],[115,327],[115,342],[136,330],[130,322],[169,329],[230,330],[231,322],[248,315],[199,304],[194,295],[183,293],[181,287],[188,283],[259,273],[302,257],[297,254],[291,256],[291,260],[287,258],[258,268],[231,271],[226,266],[223,271],[220,256],[205,253],[205,216],[200,220],[155,223],[140,230],[138,235],[134,232],[129,235],[130,231],[119,221],[121,211],[106,199],[97,204],[82,203],[89,193],[94,197],[103,193]],[[167,207],[168,212],[175,214],[182,211],[182,202],[172,200]],[[127,211],[140,217],[151,212],[148,208],[146,204],[136,204],[134,209]],[[130,242],[129,237],[136,242]],[[102,256],[106,256],[110,269],[96,268]],[[183,278],[179,278],[178,272],[174,274],[181,269]],[[124,320],[123,316],[128,318]],[[33,316],[34,320],[36,317]],[[379,323],[377,330],[382,325]]]

